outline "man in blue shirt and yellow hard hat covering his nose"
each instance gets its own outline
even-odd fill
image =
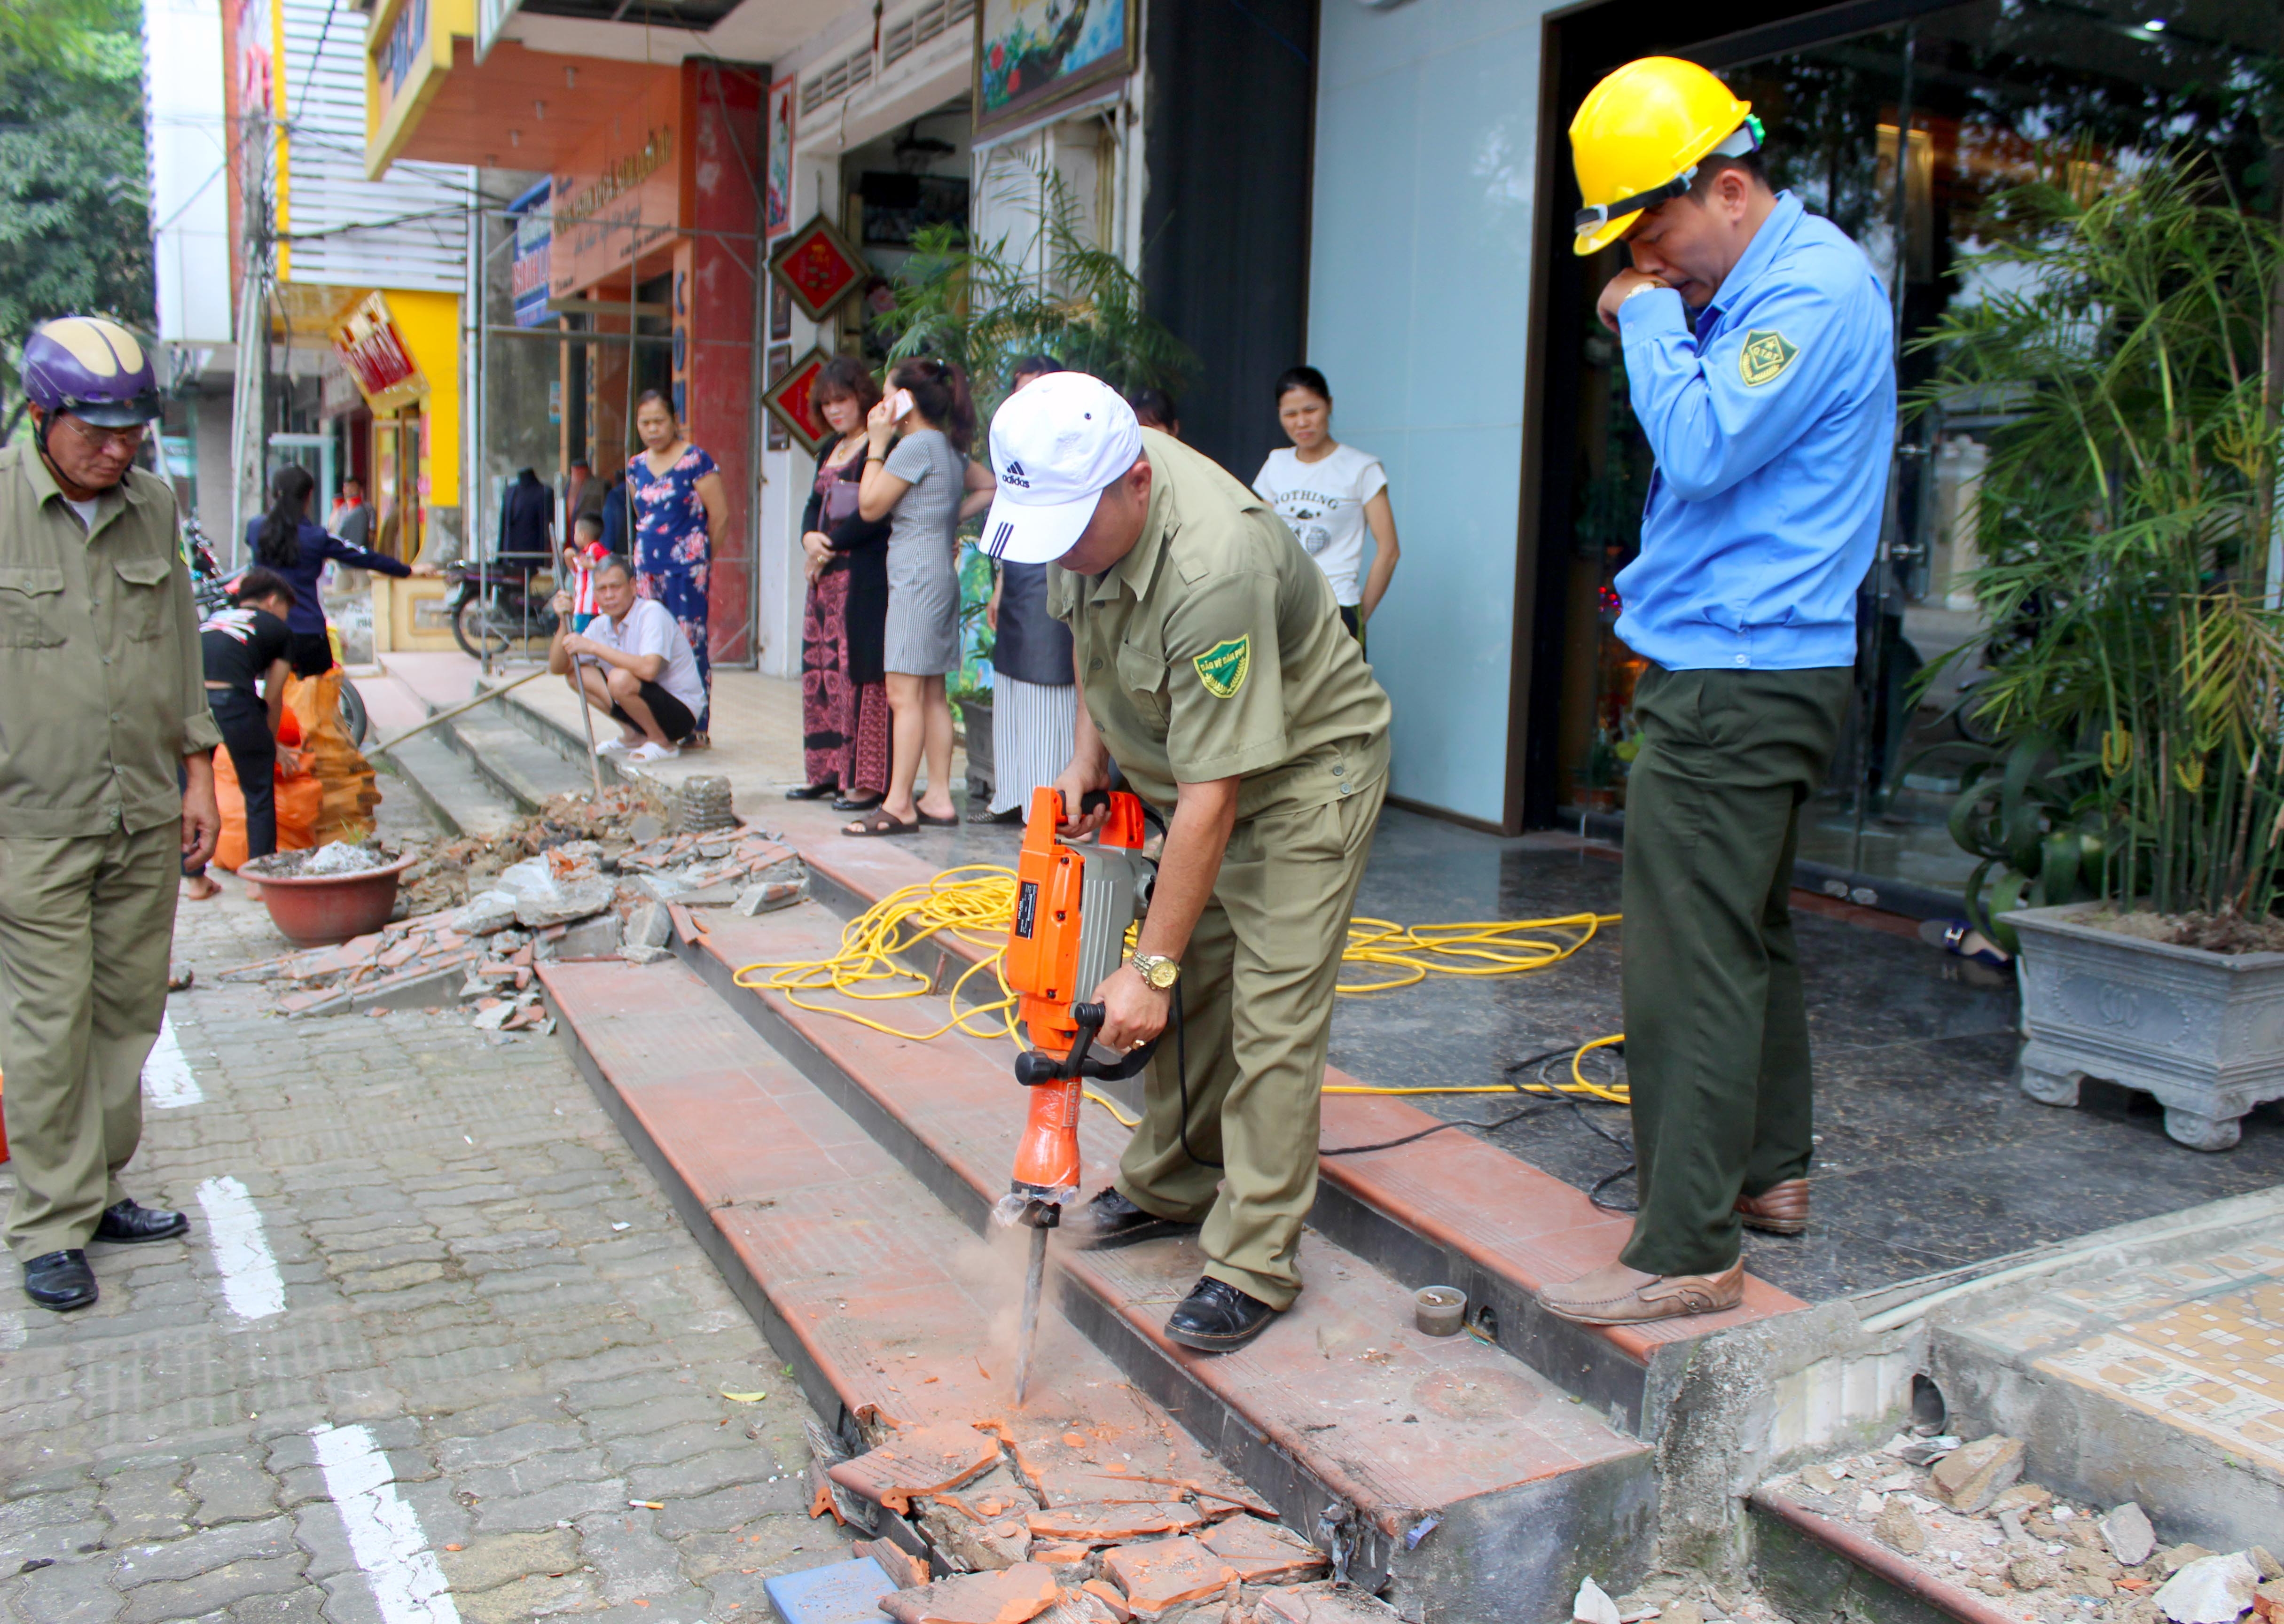
[[[1578,254],[1633,267],[1599,315],[1658,471],[1617,635],[1649,660],[1626,788],[1626,1074],[1640,1215],[1555,1313],[1736,1307],[1740,1224],[1809,1217],[1811,1087],[1791,879],[1832,763],[1887,505],[1896,340],[1864,251],[1772,192],[1752,107],[1633,62],[1571,123]]]

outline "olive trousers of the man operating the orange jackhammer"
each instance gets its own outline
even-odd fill
[[[1204,1220],[1206,1275],[1274,1309],[1300,1295],[1332,989],[1382,799],[1386,779],[1231,831],[1119,1163],[1128,1201]]]

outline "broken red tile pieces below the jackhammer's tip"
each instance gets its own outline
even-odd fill
[[[809,1514],[863,1535],[854,1553],[888,1574],[879,1610],[898,1624],[1396,1619],[1238,1482],[1055,1469],[1000,1421],[879,1423],[868,1441],[852,1457],[811,1423]]]

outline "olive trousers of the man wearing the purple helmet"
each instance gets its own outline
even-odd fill
[[[0,838],[0,1108],[18,1261],[85,1247],[126,1199],[142,1064],[167,1016],[183,825]]]

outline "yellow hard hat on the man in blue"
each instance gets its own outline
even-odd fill
[[[1644,208],[1688,192],[1713,153],[1743,158],[1759,144],[1752,103],[1706,69],[1679,57],[1628,62],[1590,89],[1571,119],[1571,164],[1585,199],[1574,251],[1617,242]]]

